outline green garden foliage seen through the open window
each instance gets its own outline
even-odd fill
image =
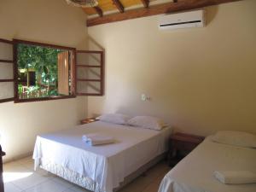
[[[35,72],[36,84],[26,86],[26,93],[36,94],[41,90],[46,90],[44,96],[58,96],[57,58],[63,50],[28,44],[18,44],[17,50],[18,79],[20,80],[19,95],[24,94],[22,86],[28,84],[28,79],[24,77],[27,77],[27,73],[32,70]],[[22,79],[23,81],[25,79],[25,82],[22,83]]]

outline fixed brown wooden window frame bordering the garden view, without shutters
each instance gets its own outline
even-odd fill
[[[19,93],[18,93],[18,61],[17,61],[17,45],[18,44],[29,44],[29,45],[35,45],[35,46],[42,46],[42,47],[48,47],[48,48],[55,48],[55,49],[65,49],[70,50],[73,52],[73,77],[72,77],[72,92],[73,95],[71,96],[60,96],[60,97],[43,97],[43,98],[31,98],[31,99],[20,99]],[[49,101],[49,100],[59,100],[59,99],[69,99],[69,98],[75,98],[76,97],[76,71],[75,71],[75,63],[76,63],[76,49],[73,47],[66,47],[61,45],[55,45],[55,44],[44,44],[44,43],[38,43],[38,42],[32,42],[32,41],[25,41],[20,39],[14,39],[13,40],[13,46],[14,46],[14,82],[15,82],[15,103],[19,102],[42,102],[42,101]],[[13,101],[13,100],[11,100]]]

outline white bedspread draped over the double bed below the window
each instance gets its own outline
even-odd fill
[[[116,141],[102,146],[86,145],[82,136],[94,133]],[[170,128],[154,131],[98,121],[38,136],[33,159],[36,167],[40,158],[45,158],[90,177],[102,191],[112,192],[126,176],[166,152],[170,134]]]

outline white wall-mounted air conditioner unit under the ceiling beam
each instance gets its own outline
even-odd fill
[[[196,10],[181,14],[163,15],[160,17],[160,29],[180,29],[202,27],[206,25],[205,11]]]

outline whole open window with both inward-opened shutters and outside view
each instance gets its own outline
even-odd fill
[[[0,102],[103,94],[103,51],[0,38]]]

